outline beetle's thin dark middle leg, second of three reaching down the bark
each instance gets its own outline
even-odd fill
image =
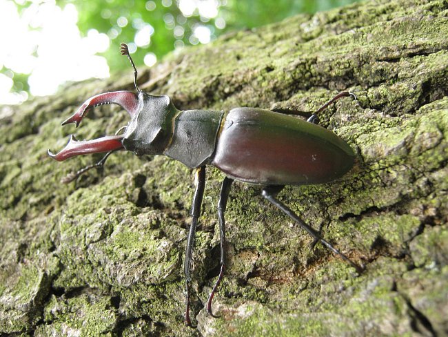
[[[216,293],[216,289],[218,289],[219,283],[223,279],[224,276],[224,249],[225,249],[225,219],[224,219],[224,213],[225,213],[225,207],[227,206],[227,200],[229,199],[230,189],[232,187],[232,183],[234,182],[233,179],[229,177],[225,177],[223,180],[223,184],[221,186],[221,194],[219,195],[219,201],[218,201],[218,218],[219,218],[219,238],[220,238],[220,251],[221,251],[221,271],[219,271],[218,280],[216,280],[214,287],[212,289],[212,292],[210,293],[210,296],[207,300],[207,313],[212,315],[212,300],[214,293]]]

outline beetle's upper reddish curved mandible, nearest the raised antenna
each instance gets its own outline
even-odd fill
[[[90,97],[79,107],[72,117],[65,119],[62,125],[74,123],[78,127],[85,113],[90,108],[103,104],[117,104],[128,111],[130,116],[133,117],[139,110],[139,97],[131,91],[113,91],[111,93],[103,93]]]

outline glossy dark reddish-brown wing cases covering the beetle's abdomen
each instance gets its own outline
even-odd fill
[[[234,108],[225,117],[212,164],[254,184],[318,184],[352,168],[352,148],[327,129],[296,117]]]

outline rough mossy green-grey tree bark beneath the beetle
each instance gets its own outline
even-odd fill
[[[192,172],[132,153],[59,183],[99,157],[50,160],[75,133],[61,121],[88,97],[132,90],[132,70],[65,86],[0,110],[0,334],[8,336],[444,336],[448,334],[448,2],[378,0],[235,32],[143,70],[141,86],[179,108],[312,111],[349,142],[355,167],[279,198],[358,263],[356,271],[281,215],[260,188],[236,183],[218,273],[209,168],[196,236],[192,309],[183,324],[183,250]],[[123,58],[123,62],[127,62]],[[149,77],[150,76],[150,77]],[[149,79],[150,78],[150,79]],[[79,139],[127,123],[90,113]]]

